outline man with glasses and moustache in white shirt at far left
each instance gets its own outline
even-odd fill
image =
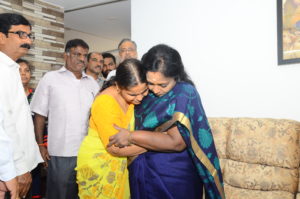
[[[3,108],[3,130],[10,137],[20,197],[25,197],[32,178],[30,171],[42,162],[35,141],[30,108],[24,93],[19,65],[34,37],[31,24],[19,14],[0,14],[0,106]],[[1,148],[0,150],[4,150]],[[8,180],[8,179],[7,179]],[[1,182],[0,182],[1,184]],[[3,184],[3,182],[2,182]]]

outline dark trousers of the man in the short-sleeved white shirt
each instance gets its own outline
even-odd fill
[[[50,156],[47,174],[47,199],[79,199],[76,184],[77,157]]]

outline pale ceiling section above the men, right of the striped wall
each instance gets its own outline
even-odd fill
[[[65,10],[65,28],[119,42],[130,38],[130,0],[45,0]]]

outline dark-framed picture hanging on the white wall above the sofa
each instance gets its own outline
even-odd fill
[[[277,0],[278,65],[300,63],[300,2]]]

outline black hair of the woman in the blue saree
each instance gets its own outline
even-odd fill
[[[146,72],[161,72],[165,77],[174,78],[176,82],[194,85],[184,69],[180,54],[168,45],[159,44],[152,47],[143,55],[142,64]]]

